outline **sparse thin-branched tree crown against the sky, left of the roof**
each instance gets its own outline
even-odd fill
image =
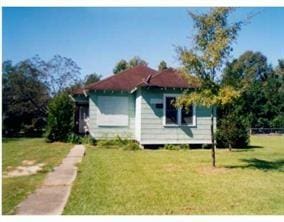
[[[44,83],[52,96],[75,85],[80,80],[81,68],[71,58],[55,55],[49,61],[33,58],[35,66],[44,73]]]

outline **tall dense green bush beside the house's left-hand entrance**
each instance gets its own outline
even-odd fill
[[[74,103],[68,94],[63,92],[48,104],[47,141],[66,141],[73,129]]]

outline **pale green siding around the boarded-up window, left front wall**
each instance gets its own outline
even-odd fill
[[[117,96],[128,98],[128,126],[99,126],[97,124],[98,97]],[[89,131],[95,139],[111,139],[116,136],[134,139],[135,94],[126,92],[91,92],[89,94]]]

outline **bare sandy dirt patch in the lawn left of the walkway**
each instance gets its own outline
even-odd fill
[[[21,166],[17,167],[7,167],[7,171],[4,172],[3,177],[20,177],[20,176],[29,176],[36,174],[38,171],[41,171],[44,163],[35,164],[35,160],[23,160]]]

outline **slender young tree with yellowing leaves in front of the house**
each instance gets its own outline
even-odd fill
[[[236,39],[242,22],[228,22],[232,8],[213,8],[204,14],[189,12],[197,32],[191,49],[178,47],[177,52],[183,65],[182,71],[188,79],[198,84],[195,91],[185,91],[176,102],[177,106],[188,107],[192,103],[211,107],[212,165],[216,166],[214,107],[233,101],[239,93],[231,86],[220,87],[217,83],[221,71]]]

